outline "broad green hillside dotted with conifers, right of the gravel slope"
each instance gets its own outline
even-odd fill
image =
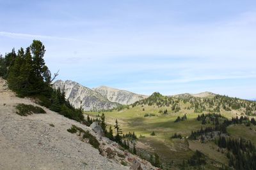
[[[216,134],[226,136],[227,139],[244,138],[246,142],[252,141],[256,145],[256,124],[253,120],[250,122],[256,115],[256,103],[243,99],[208,92],[196,97],[191,94],[168,97],[155,92],[147,99],[129,105],[129,108],[104,113],[109,124],[113,124],[113,120],[118,118],[124,133],[135,132],[140,136],[140,145],[137,145],[139,154],[150,160],[147,154],[157,153],[166,169],[182,169],[182,162],[191,159],[196,150],[206,157],[204,169],[228,167],[230,159],[227,152],[214,143],[219,139]],[[95,117],[99,113],[86,114]],[[198,115],[203,114],[204,118],[198,119]],[[203,131],[212,127],[215,130],[204,132],[202,137],[190,137],[191,131],[200,134],[200,129]],[[221,130],[223,127],[225,129]]]

